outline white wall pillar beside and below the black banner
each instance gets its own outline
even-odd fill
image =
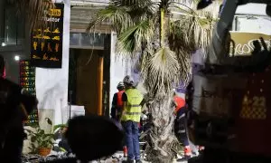
[[[56,0],[61,3],[61,0]],[[62,112],[68,109],[70,49],[70,0],[64,1],[63,52],[61,69],[36,68],[36,95],[41,110],[54,110],[54,123],[62,123]],[[50,112],[50,111],[48,111]]]

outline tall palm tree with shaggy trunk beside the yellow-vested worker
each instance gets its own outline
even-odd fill
[[[187,83],[190,56],[205,49],[219,5],[195,12],[189,0],[110,0],[89,23],[88,30],[102,22],[117,32],[117,53],[135,58],[147,94],[147,107],[153,115],[148,134],[147,158],[152,162],[173,162],[173,107],[171,90],[180,81]],[[177,12],[179,14],[173,14]]]

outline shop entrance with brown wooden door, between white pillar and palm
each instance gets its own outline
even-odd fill
[[[108,116],[117,83],[131,74],[131,69],[127,60],[115,53],[117,35],[107,23],[86,33],[91,15],[107,1],[95,2],[71,1],[69,92],[73,105],[83,105],[86,113]]]

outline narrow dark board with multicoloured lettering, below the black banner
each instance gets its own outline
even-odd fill
[[[20,85],[27,93],[35,96],[35,68],[30,61],[20,61]],[[39,124],[38,110],[35,109],[24,121],[24,125],[31,126]]]

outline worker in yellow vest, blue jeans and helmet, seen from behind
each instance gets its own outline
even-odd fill
[[[122,95],[124,109],[122,112],[122,123],[126,132],[126,147],[128,149],[127,163],[142,163],[140,160],[138,123],[140,122],[143,95],[135,89],[134,80],[126,76],[123,80],[126,91]]]

